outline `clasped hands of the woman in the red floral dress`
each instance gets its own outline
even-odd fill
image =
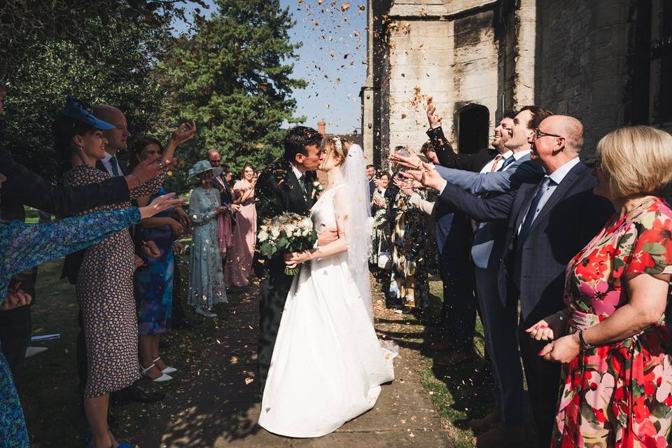
[[[568,363],[581,351],[578,333],[566,335],[567,321],[560,313],[543,318],[525,331],[532,339],[549,341],[538,353],[547,361]]]

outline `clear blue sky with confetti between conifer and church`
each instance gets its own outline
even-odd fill
[[[305,124],[312,127],[324,119],[332,134],[361,132],[359,90],[366,78],[366,12],[362,8],[366,2],[318,1],[280,0],[296,22],[292,41],[303,43],[297,51],[294,76],[309,83],[294,92],[295,116],[305,116]],[[211,0],[207,3],[213,4]],[[213,10],[214,6],[202,13],[209,15]],[[176,24],[177,31],[185,29]]]

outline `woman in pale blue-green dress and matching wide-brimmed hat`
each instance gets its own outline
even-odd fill
[[[207,160],[200,160],[189,170],[189,181],[198,182],[189,200],[189,218],[194,237],[189,265],[188,302],[197,314],[216,317],[210,311],[213,304],[226,302],[226,286],[219,252],[217,215],[227,210],[219,203],[219,191],[212,188],[213,176],[221,174]]]

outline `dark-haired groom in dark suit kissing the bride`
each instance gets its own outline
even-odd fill
[[[315,170],[323,157],[322,139],[322,134],[311,127],[296,126],[288,130],[283,156],[263,169],[257,181],[255,194],[258,224],[264,218],[272,218],[286,211],[308,214],[316,200],[313,183],[316,181]],[[318,245],[323,246],[336,239],[335,229],[324,230],[318,236]],[[263,395],[282,310],[294,276],[284,273],[285,262],[281,253],[276,253],[270,260],[260,258],[258,262],[262,265],[258,379]]]

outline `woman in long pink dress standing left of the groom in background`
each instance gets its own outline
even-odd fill
[[[235,199],[240,205],[233,230],[233,251],[226,257],[225,282],[228,286],[247,286],[247,277],[252,275],[252,255],[257,242],[257,209],[254,202],[254,186],[257,176],[254,167],[246,163],[243,179],[233,186]]]

